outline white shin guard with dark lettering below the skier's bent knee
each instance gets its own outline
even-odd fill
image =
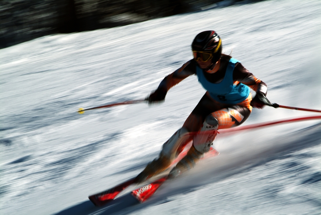
[[[212,114],[205,118],[201,132],[193,138],[193,145],[195,149],[201,153],[208,152],[213,145],[213,140],[217,135],[219,122],[215,119]],[[211,131],[204,133],[202,131]]]

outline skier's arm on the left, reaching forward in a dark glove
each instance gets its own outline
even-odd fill
[[[177,69],[175,72],[166,76],[161,82],[158,88],[149,95],[148,102],[163,101],[170,88],[177,85],[179,82],[184,80],[190,75],[195,74],[195,61],[189,60],[182,67]]]

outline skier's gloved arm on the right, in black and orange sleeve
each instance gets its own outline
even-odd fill
[[[265,105],[272,105],[272,103],[266,98],[267,85],[244,68],[241,63],[237,63],[235,65],[233,80],[249,86],[256,92],[255,97],[251,101],[251,105],[253,107],[263,108]]]

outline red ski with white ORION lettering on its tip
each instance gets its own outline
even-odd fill
[[[213,157],[218,154],[220,153],[211,147],[210,151],[207,152],[201,159]],[[156,192],[160,185],[162,185],[167,180],[167,178],[168,176],[164,176],[160,179],[157,179],[150,184],[144,185],[136,190],[133,190],[130,194],[134,196],[138,200],[138,202],[145,202],[147,199],[152,197],[152,195]]]

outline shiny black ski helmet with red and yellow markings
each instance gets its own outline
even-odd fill
[[[202,61],[212,60],[212,63],[216,63],[221,58],[222,53],[221,38],[215,31],[203,31],[196,35],[192,43],[192,51],[195,60],[201,57]],[[207,53],[210,55],[207,55]]]

